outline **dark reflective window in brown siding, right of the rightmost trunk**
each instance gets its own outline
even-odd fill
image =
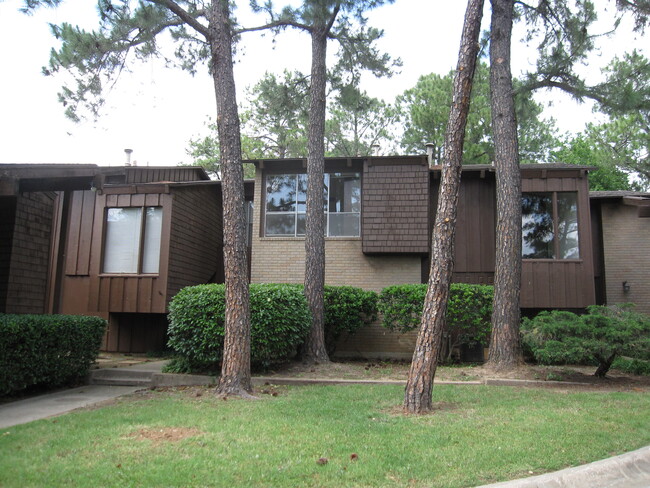
[[[578,195],[576,192],[522,195],[522,257],[578,259]]]

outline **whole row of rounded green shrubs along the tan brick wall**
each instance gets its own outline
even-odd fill
[[[426,285],[400,285],[375,292],[351,286],[325,287],[325,342],[329,354],[343,334],[354,334],[383,314],[383,325],[408,331],[419,326]],[[301,285],[251,284],[251,363],[268,367],[296,354],[309,332],[309,310]],[[181,290],[169,306],[169,346],[177,357],[173,372],[217,374],[223,351],[224,285]],[[490,334],[492,287],[452,285],[448,350],[461,343],[484,344]]]

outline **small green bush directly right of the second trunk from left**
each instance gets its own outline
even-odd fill
[[[377,294],[353,286],[325,286],[325,345],[334,354],[342,334],[377,320]]]

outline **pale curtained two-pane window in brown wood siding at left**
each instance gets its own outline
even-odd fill
[[[107,209],[104,273],[158,273],[161,233],[162,207]]]

